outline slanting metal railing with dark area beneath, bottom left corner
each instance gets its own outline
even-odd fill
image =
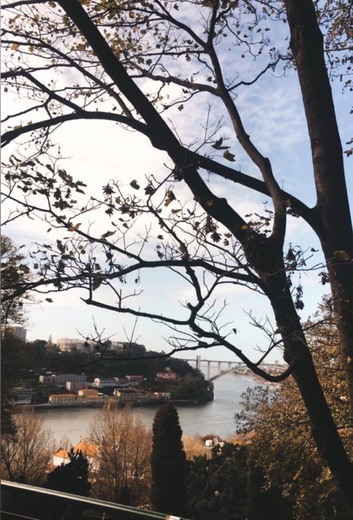
[[[8,480],[1,491],[1,520],[187,520]]]

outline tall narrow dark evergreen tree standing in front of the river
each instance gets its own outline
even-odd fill
[[[152,490],[154,509],[173,515],[186,515],[186,457],[176,408],[167,403],[153,421]]]

